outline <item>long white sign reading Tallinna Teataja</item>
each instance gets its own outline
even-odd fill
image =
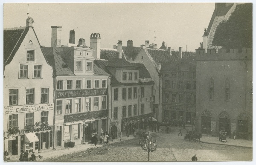
[[[19,105],[19,106],[12,106],[12,107],[4,107],[4,114],[20,113],[20,112],[33,112],[36,110],[52,110],[52,109],[53,109],[53,103]]]

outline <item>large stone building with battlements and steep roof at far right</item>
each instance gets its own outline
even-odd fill
[[[196,49],[198,130],[252,138],[252,3],[215,3]]]

